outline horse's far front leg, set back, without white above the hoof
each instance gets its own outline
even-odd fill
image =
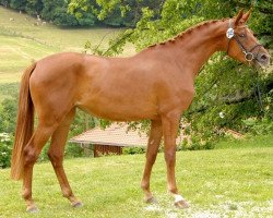
[[[152,125],[151,125],[150,137],[149,137],[147,150],[146,150],[146,164],[145,164],[144,173],[143,173],[143,178],[141,182],[141,187],[145,195],[144,198],[145,198],[145,202],[147,203],[155,202],[153,194],[150,191],[150,178],[151,178],[153,165],[156,159],[158,147],[161,144],[162,135],[163,135],[162,121],[159,119],[153,120]]]

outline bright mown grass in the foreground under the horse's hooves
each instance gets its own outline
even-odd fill
[[[50,164],[38,164],[33,187],[38,217],[272,217],[273,136],[233,144],[239,148],[226,148],[230,142],[224,142],[221,149],[177,153],[178,184],[191,204],[186,210],[176,209],[166,192],[163,154],[152,175],[156,205],[145,204],[139,187],[144,155],[66,160],[82,208],[71,208],[61,196]],[[21,182],[9,179],[9,169],[0,170],[0,217],[29,217],[21,199]]]

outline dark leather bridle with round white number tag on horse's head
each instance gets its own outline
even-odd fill
[[[239,40],[239,38],[237,37],[237,35],[235,34],[234,32],[234,28],[233,28],[233,25],[232,25],[232,20],[229,20],[229,26],[228,26],[228,29],[226,32],[226,37],[228,38],[228,44],[227,44],[227,55],[228,55],[228,50],[229,50],[229,44],[230,44],[230,40],[234,38],[236,40],[236,43],[238,44],[238,46],[240,47],[241,51],[245,53],[245,59],[248,61],[248,62],[251,62],[253,59],[257,59],[258,55],[259,55],[259,51],[258,53],[252,53],[251,51],[253,51],[256,48],[258,47],[262,47],[261,44],[257,44],[254,45],[251,49],[247,49],[242,43]]]

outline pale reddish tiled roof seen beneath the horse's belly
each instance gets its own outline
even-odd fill
[[[94,144],[94,145],[111,145],[111,146],[140,146],[144,147],[147,144],[147,135],[139,133],[139,131],[128,131],[128,125],[111,124],[102,130],[95,128],[80,135],[72,137],[69,142]]]

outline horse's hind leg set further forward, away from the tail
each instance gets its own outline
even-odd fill
[[[48,150],[48,157],[52,164],[63,196],[71,202],[72,206],[79,207],[82,205],[82,203],[73,195],[62,166],[64,146],[69,133],[69,128],[71,121],[74,118],[74,114],[75,109],[72,109],[70,113],[67,114],[66,119],[60,123],[58,129],[54,132],[51,137],[51,144]]]

